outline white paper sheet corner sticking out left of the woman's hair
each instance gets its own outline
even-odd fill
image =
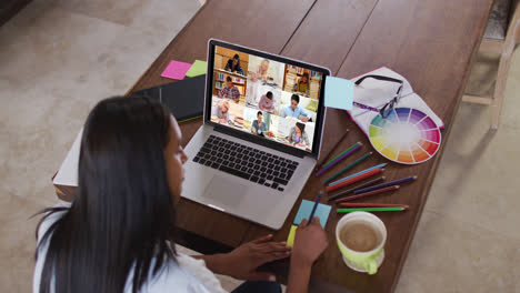
[[[69,153],[67,153],[66,159],[61,163],[60,170],[52,180],[53,184],[78,186],[78,164],[82,135],[83,129],[81,129],[76,137],[72,148],[69,150]]]

